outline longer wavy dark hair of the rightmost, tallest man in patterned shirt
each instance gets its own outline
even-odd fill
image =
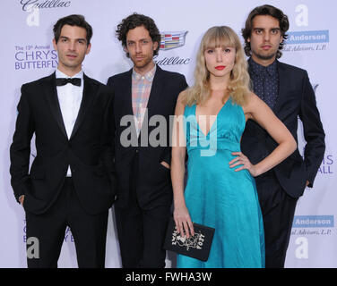
[[[248,42],[248,38],[251,38],[252,36],[253,19],[255,18],[255,16],[258,16],[258,15],[272,16],[273,18],[279,21],[280,29],[281,29],[281,36],[283,38],[280,43],[279,49],[276,53],[276,58],[278,59],[282,55],[281,49],[284,46],[284,40],[288,38],[288,35],[286,34],[286,32],[289,29],[289,20],[288,20],[288,16],[285,15],[280,9],[272,5],[267,5],[267,4],[258,6],[255,9],[253,9],[252,12],[249,13],[248,18],[246,19],[245,28],[241,30],[242,37],[245,39],[245,53],[247,56],[252,55],[252,50],[250,47],[250,43]]]

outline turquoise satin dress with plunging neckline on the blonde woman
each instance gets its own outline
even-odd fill
[[[264,267],[264,223],[255,180],[247,170],[229,168],[240,151],[246,120],[231,98],[220,109],[205,136],[195,117],[196,105],[185,108],[187,161],[186,206],[192,222],[215,228],[206,262],[177,256],[177,267]]]

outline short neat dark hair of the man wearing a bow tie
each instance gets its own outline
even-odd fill
[[[65,25],[70,25],[70,26],[77,26],[84,28],[87,31],[87,45],[90,44],[91,42],[91,37],[92,37],[92,27],[91,25],[85,21],[84,16],[82,15],[69,15],[64,18],[59,19],[56,21],[56,24],[54,25],[54,38],[56,40],[56,43],[58,42],[58,39],[60,38],[61,35],[61,29]]]

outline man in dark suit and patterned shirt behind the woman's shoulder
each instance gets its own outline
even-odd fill
[[[288,17],[271,5],[256,7],[242,29],[246,55],[251,56],[249,74],[255,94],[272,108],[296,140],[299,117],[307,141],[304,160],[297,149],[271,171],[255,178],[264,215],[265,265],[278,268],[284,267],[296,203],[306,187],[313,187],[325,150],[324,130],[307,71],[277,60],[288,29]],[[241,149],[253,164],[276,146],[261,126],[246,122]]]

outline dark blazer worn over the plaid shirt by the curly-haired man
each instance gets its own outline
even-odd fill
[[[144,209],[160,205],[170,205],[172,202],[170,172],[160,162],[165,161],[170,164],[171,147],[169,147],[169,138],[171,128],[169,116],[175,114],[177,96],[187,87],[186,79],[182,74],[163,71],[157,66],[147,105],[147,117],[145,116],[144,118],[141,133],[138,139],[136,139],[135,146],[125,147],[121,143],[123,131],[129,129],[135,132],[133,121],[127,124],[127,126],[122,126],[121,124],[123,116],[133,115],[132,71],[131,69],[108,79],[108,86],[114,89],[115,96],[117,206],[126,206],[134,181],[139,204]],[[164,143],[160,144],[160,146],[151,146],[150,143],[151,131],[159,126],[159,122],[153,124],[155,126],[149,126],[151,124],[151,122],[149,124],[149,121],[153,115],[164,116],[167,124],[165,134],[160,133],[160,136],[158,135],[157,137],[160,137],[160,141],[162,140]],[[148,126],[148,131],[144,129],[146,126]],[[162,125],[160,126],[163,127]],[[163,139],[163,135],[166,135],[166,138]],[[149,143],[141,144],[141,139],[145,139]],[[136,154],[138,155],[138,160],[134,161]],[[138,162],[137,169],[139,172],[137,173],[133,173],[134,168],[132,165],[134,162]]]

